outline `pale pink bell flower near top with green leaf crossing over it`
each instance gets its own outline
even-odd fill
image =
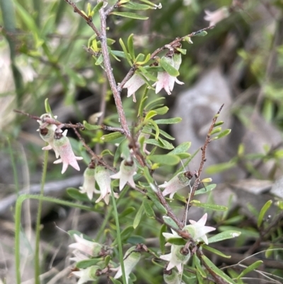
[[[180,54],[175,53],[173,57],[163,57],[164,60],[168,64],[171,64],[175,69],[180,68],[180,64],[182,62],[182,57]],[[171,95],[171,91],[173,91],[175,82],[177,84],[183,85],[184,83],[179,81],[177,77],[169,75],[166,71],[158,72],[157,74],[157,80],[156,83],[154,83],[152,86],[156,86],[155,92],[159,93],[161,89],[164,89],[168,95]]]

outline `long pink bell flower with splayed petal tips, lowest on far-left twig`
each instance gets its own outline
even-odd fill
[[[71,149],[69,138],[66,137],[67,131],[65,130],[63,133],[55,132],[54,135],[54,149],[60,155],[60,159],[54,161],[54,164],[63,163],[62,174],[64,174],[69,165],[79,171],[80,168],[77,160],[83,159],[83,157],[75,156],[73,149]]]

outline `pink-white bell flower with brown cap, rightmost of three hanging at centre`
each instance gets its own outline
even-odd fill
[[[120,183],[119,183],[120,191],[122,191],[126,183],[129,183],[129,185],[132,186],[132,188],[134,188],[135,184],[134,184],[133,176],[137,174],[136,169],[137,167],[134,164],[134,161],[123,160],[120,166],[120,171],[118,171],[117,174],[112,174],[110,178],[120,179]]]

